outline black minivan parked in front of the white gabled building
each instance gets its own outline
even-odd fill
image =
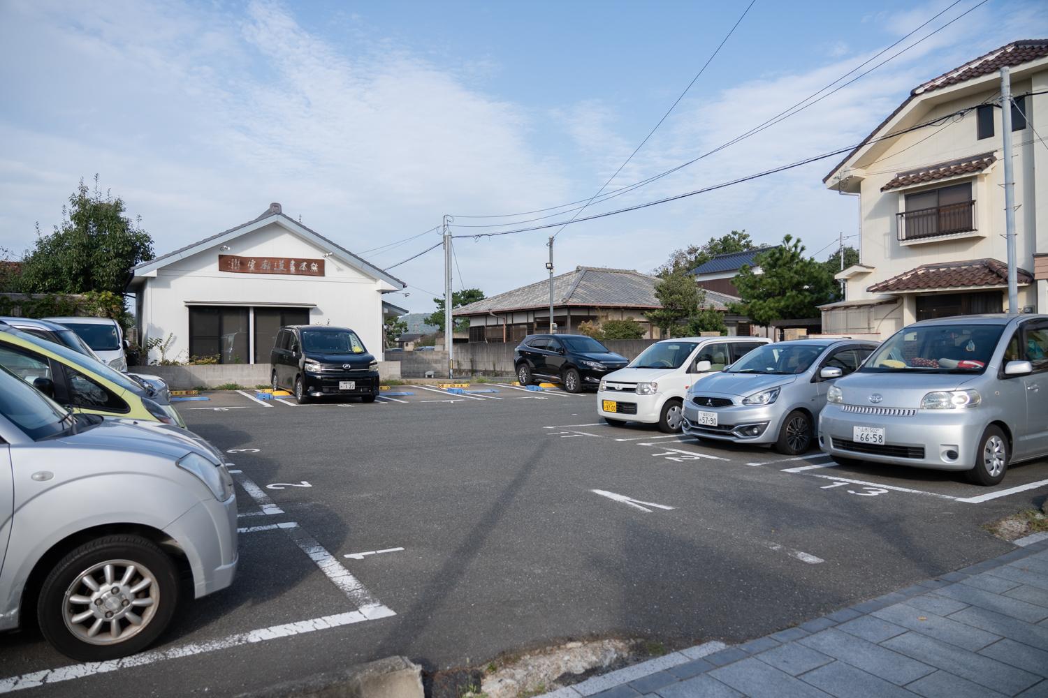
[[[283,327],[269,361],[274,389],[291,390],[300,404],[325,396],[374,402],[378,395],[378,362],[348,328]]]

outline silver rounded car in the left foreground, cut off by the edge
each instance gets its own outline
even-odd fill
[[[237,568],[221,455],[166,425],[66,412],[0,367],[0,630],[36,617],[63,654],[138,652]]]

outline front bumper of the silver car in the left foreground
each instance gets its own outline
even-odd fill
[[[200,501],[165,530],[185,554],[199,599],[233,584],[237,573],[237,497]]]

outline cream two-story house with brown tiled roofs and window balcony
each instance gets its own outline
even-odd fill
[[[1048,313],[1048,40],[1016,41],[916,87],[823,180],[858,195],[860,263],[823,331],[888,337],[1007,311],[1000,69],[1010,69],[1019,310]]]

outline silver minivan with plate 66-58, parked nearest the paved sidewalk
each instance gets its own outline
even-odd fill
[[[820,446],[839,463],[965,471],[997,485],[1048,455],[1048,315],[924,320],[830,388]]]

